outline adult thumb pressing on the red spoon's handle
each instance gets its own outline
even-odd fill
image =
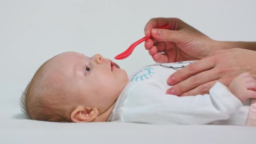
[[[179,43],[185,38],[181,31],[169,29],[152,29],[151,35],[160,42]]]

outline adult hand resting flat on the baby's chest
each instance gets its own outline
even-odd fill
[[[243,72],[256,79],[256,51],[241,48],[220,50],[174,72],[168,79],[173,85],[166,93],[178,96],[205,94],[217,82],[228,86]]]

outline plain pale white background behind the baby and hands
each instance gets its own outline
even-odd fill
[[[255,7],[255,0],[0,0],[0,120],[19,119],[22,91],[56,54],[113,59],[144,37],[153,17],[178,17],[215,40],[255,41]],[[153,63],[144,44],[115,62],[128,74]]]

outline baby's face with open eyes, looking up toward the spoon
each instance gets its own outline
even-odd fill
[[[65,83],[72,96],[80,97],[80,105],[106,110],[115,103],[128,82],[127,73],[100,54],[88,57],[76,52],[65,52],[52,59],[51,67],[63,76],[57,83]],[[64,82],[65,81],[65,82]]]

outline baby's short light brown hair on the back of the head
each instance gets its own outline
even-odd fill
[[[75,109],[72,100],[67,100],[67,93],[61,86],[54,86],[56,81],[52,77],[45,76],[48,61],[37,70],[22,93],[21,111],[32,120],[71,122],[70,113]]]

